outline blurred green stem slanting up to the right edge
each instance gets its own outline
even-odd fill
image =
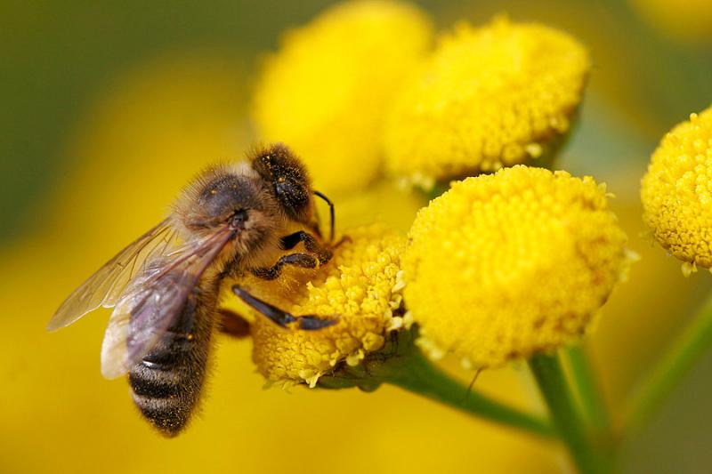
[[[651,416],[695,362],[712,345],[712,294],[683,333],[667,349],[650,375],[627,404],[627,435],[650,421]]]

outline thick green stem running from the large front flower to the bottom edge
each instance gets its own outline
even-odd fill
[[[579,417],[559,359],[538,354],[530,358],[529,365],[554,424],[578,470],[581,474],[608,472],[587,436],[585,423]]]

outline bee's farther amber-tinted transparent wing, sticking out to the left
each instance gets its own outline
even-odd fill
[[[166,219],[137,238],[106,262],[61,303],[47,325],[49,331],[70,325],[86,313],[113,307],[126,285],[142,269],[143,262],[167,253],[174,244],[174,231]]]

